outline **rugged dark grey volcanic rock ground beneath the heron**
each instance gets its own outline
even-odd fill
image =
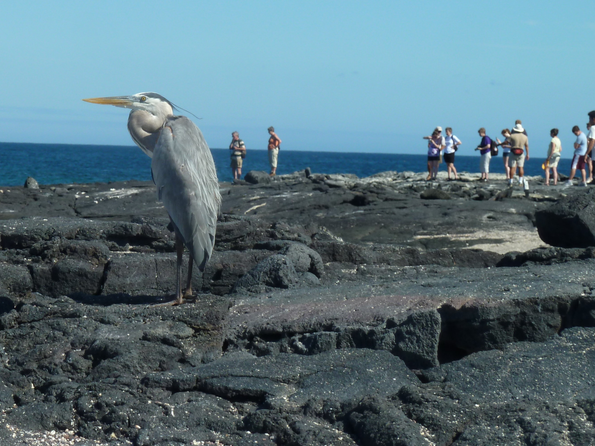
[[[3,188],[0,443],[595,444],[593,244],[478,235],[583,192],[422,176],[222,184],[174,307],[153,187]]]

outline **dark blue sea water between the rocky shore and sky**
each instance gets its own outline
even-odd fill
[[[228,149],[211,149],[220,181],[231,180]],[[352,173],[367,177],[387,170],[423,172],[426,155],[397,153],[279,152],[277,174],[306,167],[326,174]],[[479,156],[456,156],[459,171],[478,172]],[[525,162],[527,175],[543,175],[543,158]],[[560,159],[559,171],[568,174],[570,159]],[[249,150],[242,174],[269,170],[267,150]],[[446,164],[440,165],[446,170]],[[504,173],[502,156],[493,158],[490,172]],[[151,159],[136,146],[0,143],[0,184],[17,186],[33,177],[40,184],[151,180]]]

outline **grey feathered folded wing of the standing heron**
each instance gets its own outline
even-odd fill
[[[180,116],[165,123],[151,169],[158,199],[202,271],[213,250],[221,195],[211,150],[192,121]]]

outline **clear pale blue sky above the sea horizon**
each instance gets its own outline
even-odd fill
[[[80,99],[154,91],[211,147],[424,153],[450,126],[471,155],[522,119],[531,154],[595,109],[590,2],[11,2],[0,141],[130,145],[127,111]]]

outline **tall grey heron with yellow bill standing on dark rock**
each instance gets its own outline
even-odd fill
[[[192,263],[204,271],[215,242],[221,195],[211,150],[201,131],[157,93],[83,99],[131,108],[128,130],[137,146],[152,158],[151,175],[176,233],[177,286],[172,304],[183,303],[181,268],[184,246],[190,252],[184,296],[192,294]]]

